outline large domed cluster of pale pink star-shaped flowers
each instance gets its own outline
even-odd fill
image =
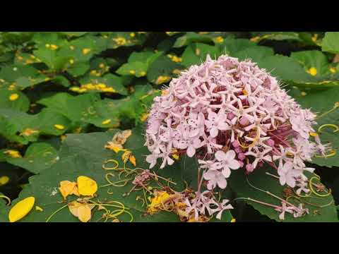
[[[230,56],[191,66],[174,78],[150,110],[146,143],[150,168],[174,163],[173,155],[196,156],[208,190],[226,188],[231,171],[250,173],[266,162],[280,184],[307,191],[304,171],[324,153],[309,134],[315,114],[302,109],[278,80],[251,61]]]

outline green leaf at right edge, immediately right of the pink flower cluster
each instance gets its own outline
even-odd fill
[[[335,124],[338,126],[339,108],[335,108],[335,103],[339,101],[339,87],[325,90],[299,90],[294,88],[290,90],[290,95],[294,97],[302,107],[310,108],[311,111],[317,113],[319,117],[316,119],[316,122],[318,124],[314,126],[316,131],[323,124]],[[331,111],[331,109],[333,110]],[[328,111],[330,112],[326,114]],[[319,133],[321,143],[330,143],[333,149],[336,150],[335,156],[327,158],[314,157],[312,163],[326,167],[339,166],[339,132],[333,131],[335,131],[334,128],[324,128],[321,133],[319,133],[319,131],[317,132]]]

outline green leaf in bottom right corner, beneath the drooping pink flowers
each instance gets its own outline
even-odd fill
[[[283,198],[283,191],[286,186],[280,186],[278,179],[275,179],[273,176],[269,176],[266,174],[269,172],[270,174],[277,175],[276,170],[273,170],[271,167],[261,167],[256,169],[253,173],[249,174],[248,179],[249,183],[256,188],[261,188],[263,191],[259,191],[258,189],[252,187],[247,183],[245,172],[242,169],[238,169],[237,171],[233,171],[230,176],[230,185],[233,191],[237,193],[237,198],[252,198],[254,200],[258,200],[261,202],[266,202],[271,205],[281,206],[280,200],[278,198],[274,198],[271,195],[268,195],[264,191],[269,191],[273,193],[273,195],[277,195],[280,198]],[[310,174],[309,178],[314,176]],[[338,215],[335,209],[335,204],[333,201],[333,196],[328,195],[327,197],[318,197],[312,194],[309,198],[301,198],[305,203],[304,207],[309,209],[309,214],[304,217],[294,218],[292,214],[285,213],[285,220],[283,222],[338,222]],[[290,198],[288,200],[293,204],[297,205],[299,202],[297,200]],[[251,200],[246,200],[249,205],[253,206],[258,212],[268,216],[270,219],[275,219],[278,222],[281,222],[279,219],[279,212],[275,211],[273,207],[269,207],[267,205],[262,205],[258,202],[254,202]],[[326,207],[315,207],[312,205],[308,205],[306,202],[315,204],[315,205],[328,205]],[[318,211],[318,212],[315,212]]]

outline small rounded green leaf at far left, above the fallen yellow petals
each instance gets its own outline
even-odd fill
[[[8,158],[7,162],[27,169],[34,174],[38,174],[44,171],[44,169],[51,167],[58,159],[58,152],[52,145],[47,143],[33,143],[26,150],[24,157]]]

